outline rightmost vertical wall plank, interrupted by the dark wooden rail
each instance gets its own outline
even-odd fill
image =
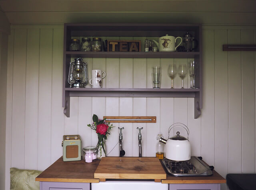
[[[254,30],[242,30],[242,44],[253,44]],[[242,173],[255,171],[254,52],[242,52]],[[248,146],[250,144],[250,146]]]

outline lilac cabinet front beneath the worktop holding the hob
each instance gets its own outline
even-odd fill
[[[220,184],[169,184],[169,190],[220,190]]]

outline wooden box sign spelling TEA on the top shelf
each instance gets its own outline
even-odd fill
[[[140,40],[107,40],[108,52],[140,52]]]

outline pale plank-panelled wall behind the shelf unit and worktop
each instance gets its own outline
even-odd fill
[[[72,97],[70,118],[62,108],[62,25],[12,26],[8,38],[6,116],[6,189],[9,168],[44,170],[62,156],[62,135],[80,134],[82,146],[96,145],[96,133],[86,125],[92,115],[157,116],[156,124],[115,124],[107,153],[118,142],[124,126],[126,156],[155,156],[156,135],[182,122],[190,129],[192,155],[202,156],[223,177],[227,173],[254,173],[255,52],[222,52],[222,44],[254,44],[254,26],[203,27],[203,109],[194,119],[193,98]],[[103,87],[152,88],[151,67],[162,67],[162,88],[170,87],[165,70],[170,62],[190,59],[85,58],[90,70],[106,71]],[[186,77],[185,87],[189,87]],[[176,76],[175,88],[181,80]],[[87,86],[89,87],[89,86]],[[183,135],[185,135],[183,133]],[[109,154],[118,156],[118,146]],[[222,185],[226,189],[226,185]]]

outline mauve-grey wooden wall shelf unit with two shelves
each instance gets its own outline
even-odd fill
[[[202,28],[201,24],[64,24],[63,55],[63,96],[64,114],[70,116],[71,96],[94,97],[192,97],[194,98],[194,118],[201,115],[202,108]],[[70,52],[70,39],[74,36],[136,36],[160,37],[169,34],[182,36],[189,32],[198,40],[195,52]],[[144,46],[144,42],[141,42]],[[153,89],[153,88],[70,88],[68,71],[71,58],[194,58],[199,64],[196,89]],[[89,71],[90,72],[90,71]]]

